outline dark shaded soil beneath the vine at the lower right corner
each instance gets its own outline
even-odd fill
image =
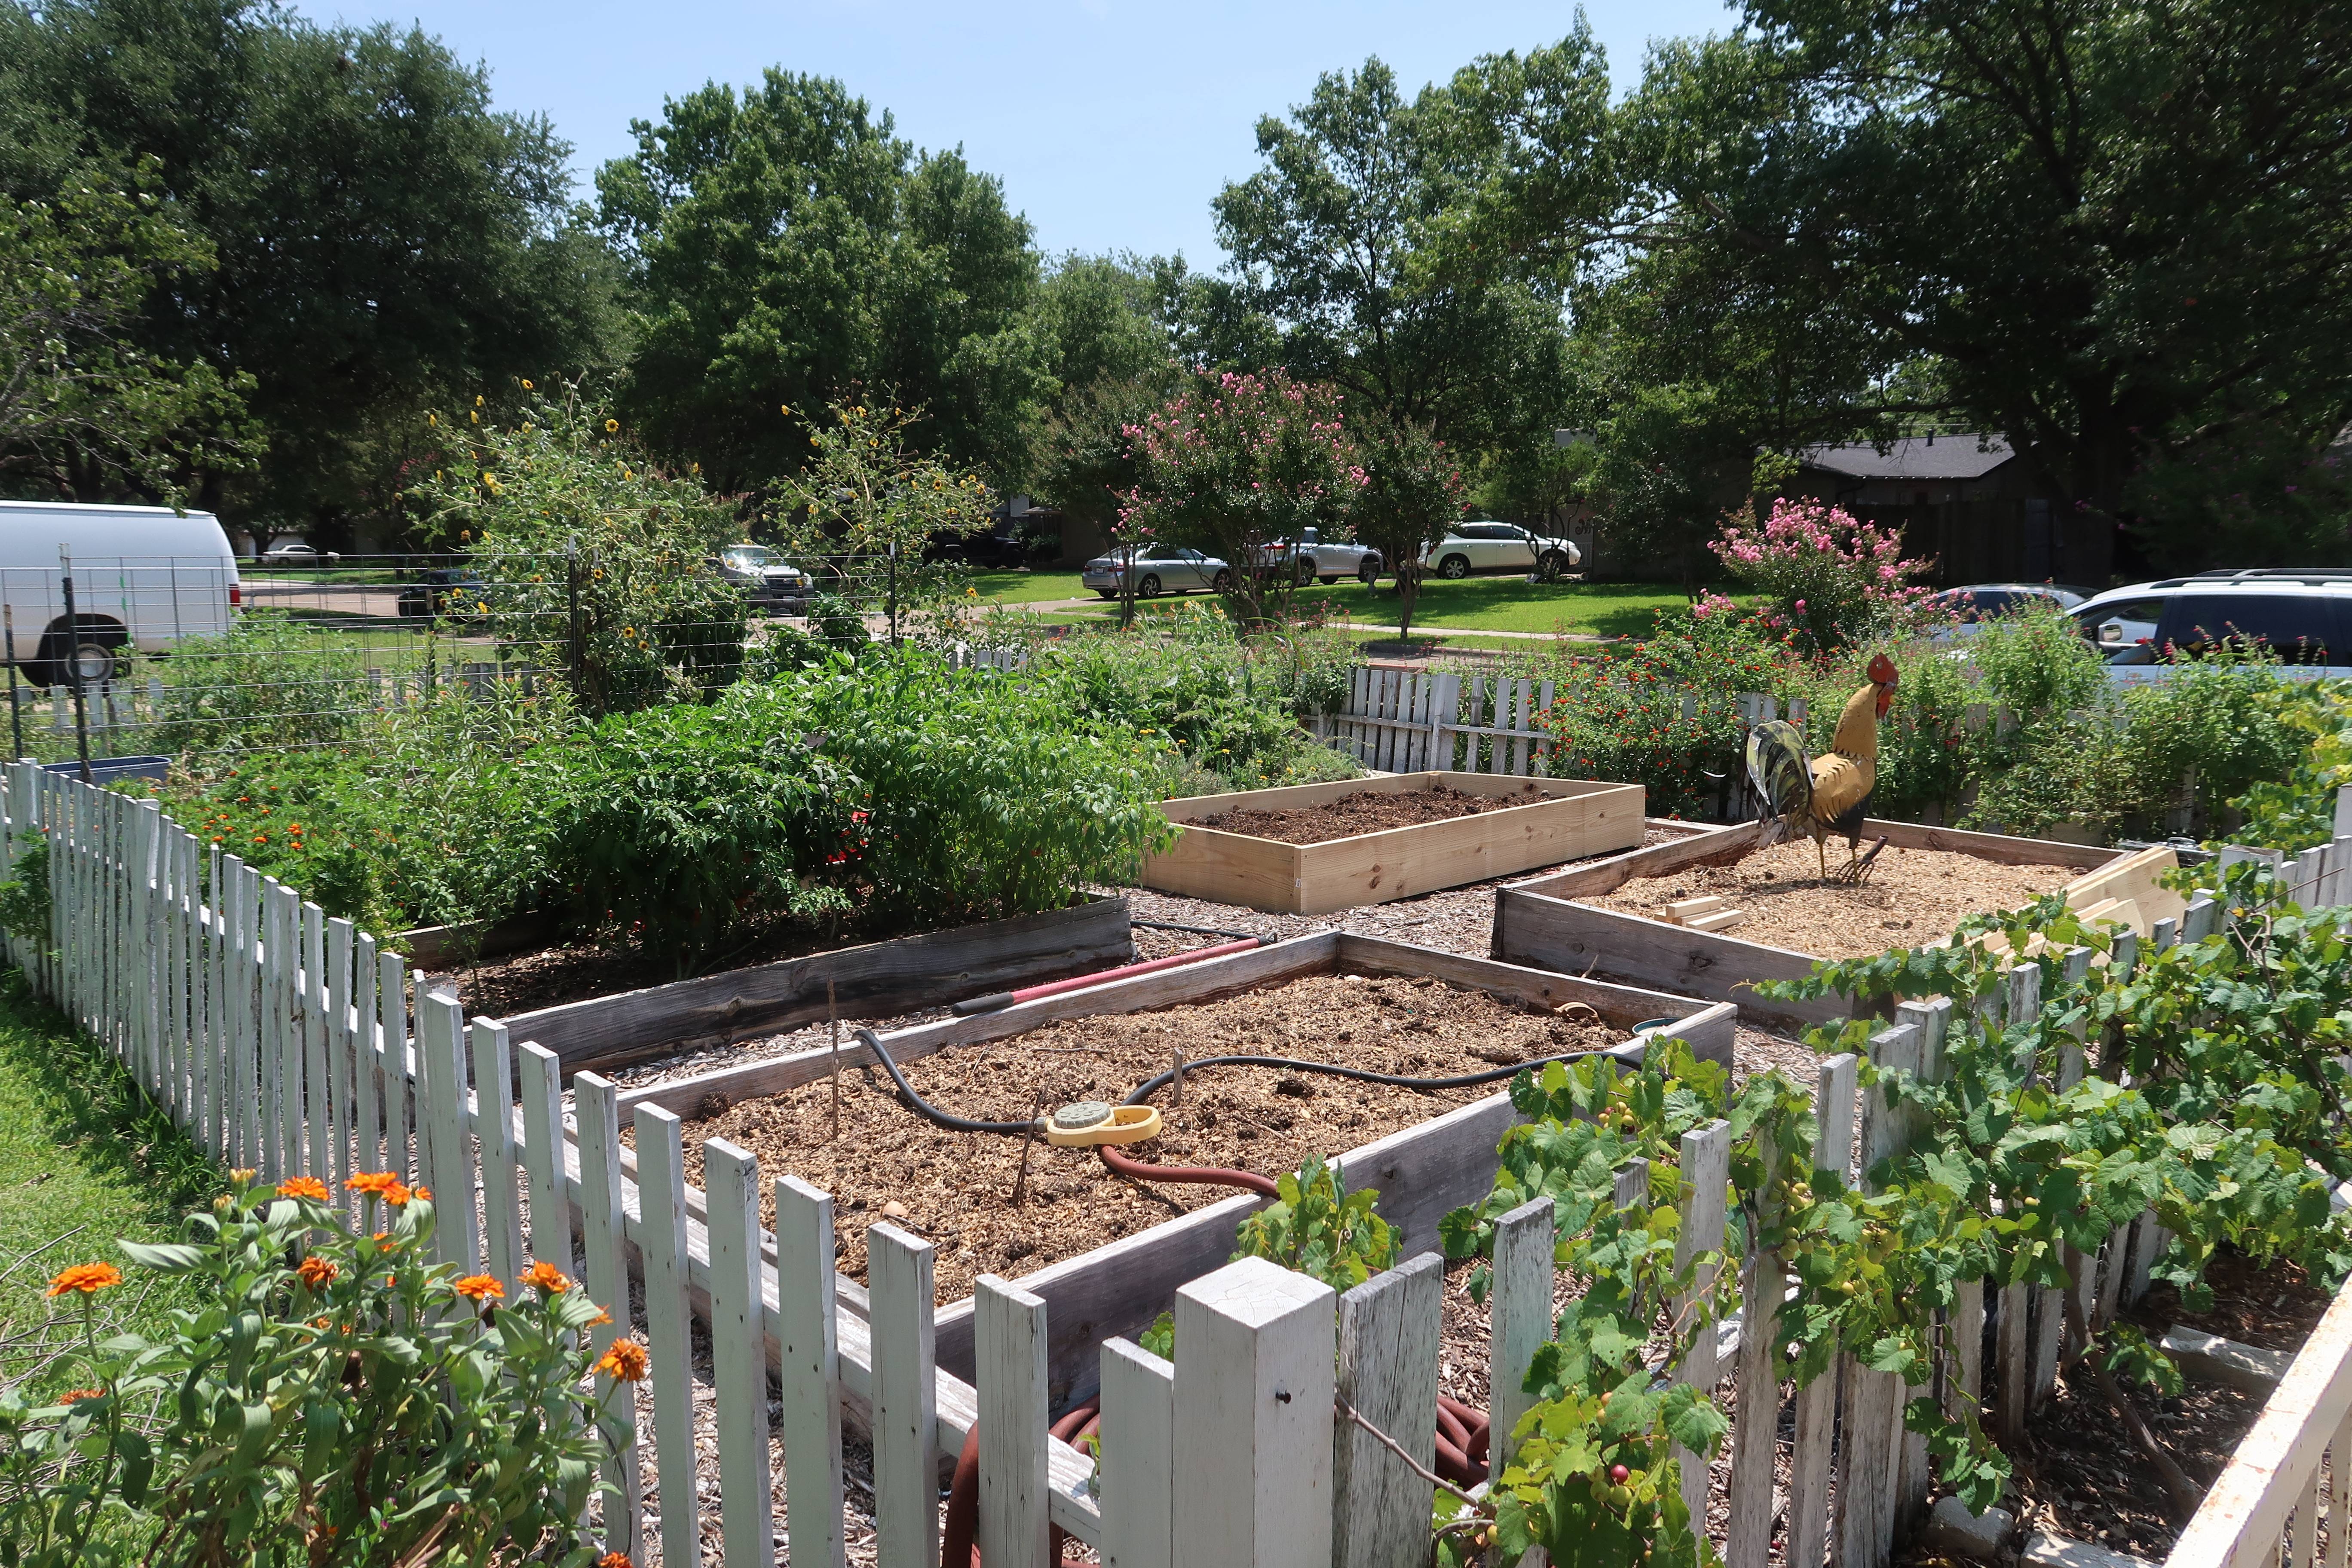
[[[2124,1316],[2161,1338],[2176,1324],[2216,1333],[2239,1345],[2298,1349],[2328,1295],[2291,1262],[2256,1267],[2237,1253],[2213,1260],[2211,1312],[2183,1312],[2171,1286],[2157,1286]],[[2199,1486],[2211,1486],[2239,1439],[2253,1427],[2265,1394],[2246,1394],[2213,1382],[2190,1382],[2178,1399],[2159,1399],[2126,1385],[2150,1429]],[[2089,1371],[2058,1380],[2058,1394],[2027,1422],[2025,1441],[2011,1455],[2018,1479],[2009,1507],[2023,1528],[2044,1528],[2070,1540],[2161,1561],[2178,1535],[2157,1481]],[[1910,1554],[1910,1561],[1929,1561]]]

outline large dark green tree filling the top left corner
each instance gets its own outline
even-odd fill
[[[421,31],[322,28],[259,0],[0,2],[0,193],[153,158],[143,188],[216,266],[158,280],[134,334],[252,374],[259,470],[193,496],[329,541],[397,517],[421,416],[508,376],[609,360],[616,270],[569,207],[569,146],[499,113]],[[111,494],[103,475],[78,494]]]

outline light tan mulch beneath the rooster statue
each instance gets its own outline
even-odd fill
[[[1867,839],[1863,849],[1870,849]],[[1830,872],[1846,842],[1830,844]],[[2013,910],[2077,877],[2065,865],[1999,865],[1950,849],[1886,846],[1863,886],[1820,879],[1811,839],[1773,844],[1738,865],[1693,865],[1668,877],[1637,877],[1613,893],[1576,903],[1665,919],[1665,905],[1719,896],[1748,914],[1724,931],[1748,943],[1823,959],[1865,959],[1889,947],[1919,947],[1952,936],[1966,914]]]

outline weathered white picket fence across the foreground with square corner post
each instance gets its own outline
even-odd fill
[[[689,1190],[675,1114],[635,1107],[635,1147],[623,1150],[614,1084],[581,1072],[567,1117],[553,1053],[510,1044],[496,1020],[468,1023],[456,999],[430,985],[412,997],[397,954],[221,844],[188,835],[153,802],[14,764],[0,811],[9,875],[35,835],[49,844],[54,919],[47,943],[12,938],[14,961],[198,1145],[270,1180],[308,1173],[339,1185],[374,1168],[421,1180],[440,1194],[442,1260],[508,1288],[529,1260],[560,1260],[612,1309],[614,1324],[600,1331],[607,1342],[644,1333],[649,1382],[621,1396],[649,1399],[640,1413],[649,1439],[612,1462],[626,1502],[597,1516],[604,1547],[670,1568],[776,1561],[781,1439],[790,1561],[842,1563],[847,1413],[873,1434],[870,1505],[856,1516],[873,1521],[887,1568],[938,1563],[941,1460],[957,1455],[974,1427],[978,1542],[990,1568],[1049,1563],[1056,1528],[1120,1568],[1416,1568],[1428,1559],[1432,1483],[1421,1469],[1435,1462],[1444,1295],[1435,1258],[1343,1298],[1263,1260],[1185,1286],[1176,1300],[1178,1366],[1127,1340],[1103,1345],[1096,1472],[1089,1455],[1047,1432],[1047,1309],[1037,1295],[981,1279],[976,1382],[967,1385],[934,1361],[929,1241],[875,1225],[868,1288],[842,1281],[828,1194],[790,1175],[774,1180],[776,1227],[762,1229],[757,1161],[724,1140],[703,1145],[708,1192]],[[2352,858],[2319,856],[2314,877],[2343,882],[2347,872]],[[2211,900],[2199,900],[2180,936],[2201,936],[2213,914]],[[2169,940],[2171,922],[2154,936],[2157,945]],[[2039,1006],[2037,983],[2037,969],[2018,969],[2009,990],[1980,1006],[1994,1018]],[[1947,1001],[1905,1004],[1875,1037],[1872,1058],[1933,1077],[1950,1018]],[[2067,1084],[2084,1070],[2082,1048],[2060,1058],[2053,1077]],[[1856,1091],[1851,1056],[1820,1065],[1816,1107],[1816,1161],[1849,1175],[1915,1131],[1882,1095]],[[1722,1121],[1682,1140],[1686,1258],[1724,1244],[1729,1150]],[[1849,1150],[1858,1152],[1853,1164]],[[1646,1190],[1639,1164],[1618,1175],[1621,1201]],[[2119,1298],[2145,1291],[2161,1241],[2143,1215],[2100,1258],[2077,1260],[2086,1316],[2105,1319]],[[1550,1201],[1505,1215],[1486,1352],[1498,1432],[1524,1413],[1524,1371],[1552,1333],[1552,1267]],[[642,1314],[630,1312],[633,1276]],[[1748,1255],[1740,1286],[1771,1316],[1788,1276],[1780,1260]],[[1992,1331],[1992,1403],[2004,1427],[2020,1425],[2056,1375],[2060,1305],[2058,1291],[1962,1293],[1952,1331],[1964,1345]],[[708,1324],[708,1389],[694,1378],[694,1319]],[[1903,1521],[1926,1497],[1926,1453],[1900,1425],[1900,1406],[1924,1389],[1842,1359],[1795,1392],[1771,1338],[1743,1333],[1736,1316],[1672,1368],[1710,1389],[1729,1378],[1738,1413],[1766,1413],[1736,1418],[1717,1460],[1729,1490],[1726,1566],[1818,1568],[1828,1559],[1884,1568]],[[2305,1427],[2326,1422],[2333,1434],[2352,1406],[2352,1326],[2312,1345],[2324,1340],[2343,1345]],[[1938,1396],[1980,1394],[1966,1387],[1976,1366],[1964,1356],[1962,1385]],[[1778,1418],[1790,1399],[1792,1439],[1783,1439]],[[715,1462],[699,1460],[699,1406],[715,1410]],[[1790,1483],[1776,1488],[1783,1441]],[[1505,1448],[1494,1443],[1494,1467]],[[2317,1474],[2303,1450],[2293,1465],[2300,1469],[2281,1472],[2284,1486]],[[1705,1472],[1691,1467],[1693,1507],[1703,1509],[1705,1488]],[[706,1509],[715,1512],[710,1540]],[[2220,1563],[2197,1559],[2197,1568]],[[2340,1547],[2331,1568],[2340,1568]]]

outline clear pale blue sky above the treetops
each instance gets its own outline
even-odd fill
[[[1418,87],[1477,54],[1569,31],[1569,5],[762,5],[757,0],[301,0],[318,21],[421,24],[489,63],[501,108],[546,110],[586,176],[628,122],[767,66],[842,78],[917,146],[964,146],[1049,252],[1218,259],[1209,197],[1256,167],[1251,127],[1324,71],[1378,54]],[[1592,0],[1623,89],[1651,38],[1719,33],[1717,0]]]

